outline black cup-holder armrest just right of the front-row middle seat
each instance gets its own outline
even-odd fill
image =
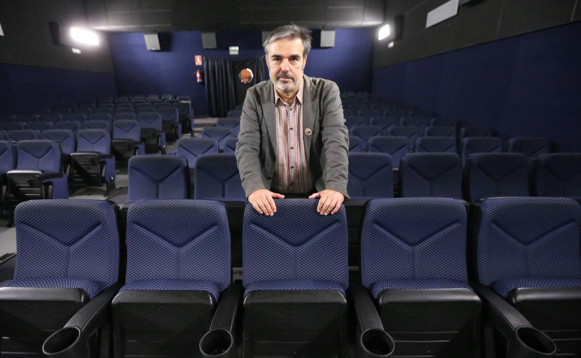
[[[349,286],[357,320],[356,345],[357,358],[390,357],[395,342],[389,333],[383,330],[379,313],[375,309],[367,289],[361,284]]]

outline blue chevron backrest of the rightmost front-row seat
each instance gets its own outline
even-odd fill
[[[568,198],[492,198],[480,205],[478,279],[581,277],[581,207]]]

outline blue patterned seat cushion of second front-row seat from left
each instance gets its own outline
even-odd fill
[[[216,301],[220,297],[217,284],[206,280],[157,279],[133,280],[125,283],[121,290],[156,290],[156,291],[207,291]]]

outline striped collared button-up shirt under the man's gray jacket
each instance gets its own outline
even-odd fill
[[[314,190],[314,180],[309,171],[302,135],[303,87],[304,80],[291,105],[283,101],[276,88],[274,89],[278,146],[277,165],[271,184],[274,192],[309,193]]]

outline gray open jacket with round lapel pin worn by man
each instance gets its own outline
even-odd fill
[[[347,198],[349,133],[335,82],[303,75],[303,143],[317,191],[332,189]],[[246,91],[236,162],[246,197],[271,188],[277,163],[274,87],[270,79]],[[308,130],[310,129],[310,131]]]

